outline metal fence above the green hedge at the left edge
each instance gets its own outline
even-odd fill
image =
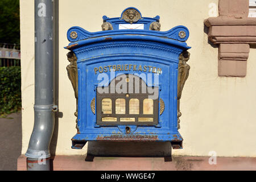
[[[20,46],[0,43],[0,67],[20,66]]]

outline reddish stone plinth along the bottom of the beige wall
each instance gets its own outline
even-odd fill
[[[209,156],[173,156],[172,162],[163,158],[96,157],[85,162],[85,155],[57,155],[53,160],[54,171],[255,171],[256,158],[217,157],[216,164],[209,164]],[[26,156],[20,155],[18,170],[26,171]],[[181,176],[182,177],[182,176]]]

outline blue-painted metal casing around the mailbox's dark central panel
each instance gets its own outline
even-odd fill
[[[130,8],[133,7],[127,9]],[[118,24],[127,23],[125,20],[107,18],[106,16],[103,16],[103,19],[104,22],[112,23],[114,30],[88,32],[80,27],[71,27],[67,32],[67,38],[71,43],[65,48],[75,52],[79,75],[77,123],[79,131],[72,138],[72,148],[81,148],[75,144],[90,140],[155,140],[182,143],[183,138],[177,131],[177,68],[180,53],[191,48],[185,43],[189,36],[188,29],[184,26],[177,26],[165,32],[149,30],[150,23],[158,21],[159,16],[143,17],[135,22],[135,24],[143,23],[144,30],[118,30]],[[77,37],[74,39],[70,36],[72,31],[77,33]],[[180,31],[185,32],[184,38],[179,37]],[[110,77],[108,66],[118,64],[151,65],[162,69],[162,73],[159,75],[159,85],[155,85],[160,88],[159,100],[162,98],[165,104],[163,114],[158,115],[158,125],[130,125],[131,132],[129,134],[126,134],[123,125],[97,125],[97,113],[92,113],[90,102],[96,98],[96,88],[101,80],[97,80],[99,72],[96,74],[94,68],[105,67],[107,71],[105,70],[106,72],[103,71],[103,73]],[[117,71],[115,75],[117,73],[141,74],[147,72],[131,69],[130,71]],[[147,80],[144,81],[147,86],[154,86]],[[182,146],[180,145],[179,148]]]

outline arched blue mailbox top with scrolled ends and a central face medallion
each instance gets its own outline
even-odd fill
[[[168,31],[159,31],[160,17],[142,17],[139,10],[135,7],[128,7],[123,10],[120,18],[108,18],[107,16],[103,16],[102,18],[104,22],[102,24],[102,30],[104,31],[89,32],[77,26],[69,28],[67,38],[71,43],[65,48],[73,50],[97,41],[102,42],[109,39],[118,40],[127,38],[163,42],[181,47],[184,50],[190,48],[185,43],[189,37],[187,27],[176,26]]]

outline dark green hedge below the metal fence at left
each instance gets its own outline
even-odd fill
[[[0,117],[21,109],[20,67],[0,67]]]

